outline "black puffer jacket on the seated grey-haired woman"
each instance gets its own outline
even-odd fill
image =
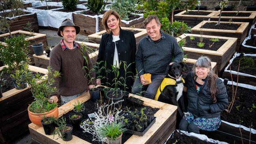
[[[213,103],[210,87],[207,83],[208,77],[204,80],[204,85],[202,85],[199,93],[197,93],[194,76],[195,73],[189,72],[185,79],[187,85],[188,111],[195,117],[215,118],[219,116],[228,106],[228,94],[224,83],[221,79],[217,79],[217,102]]]

